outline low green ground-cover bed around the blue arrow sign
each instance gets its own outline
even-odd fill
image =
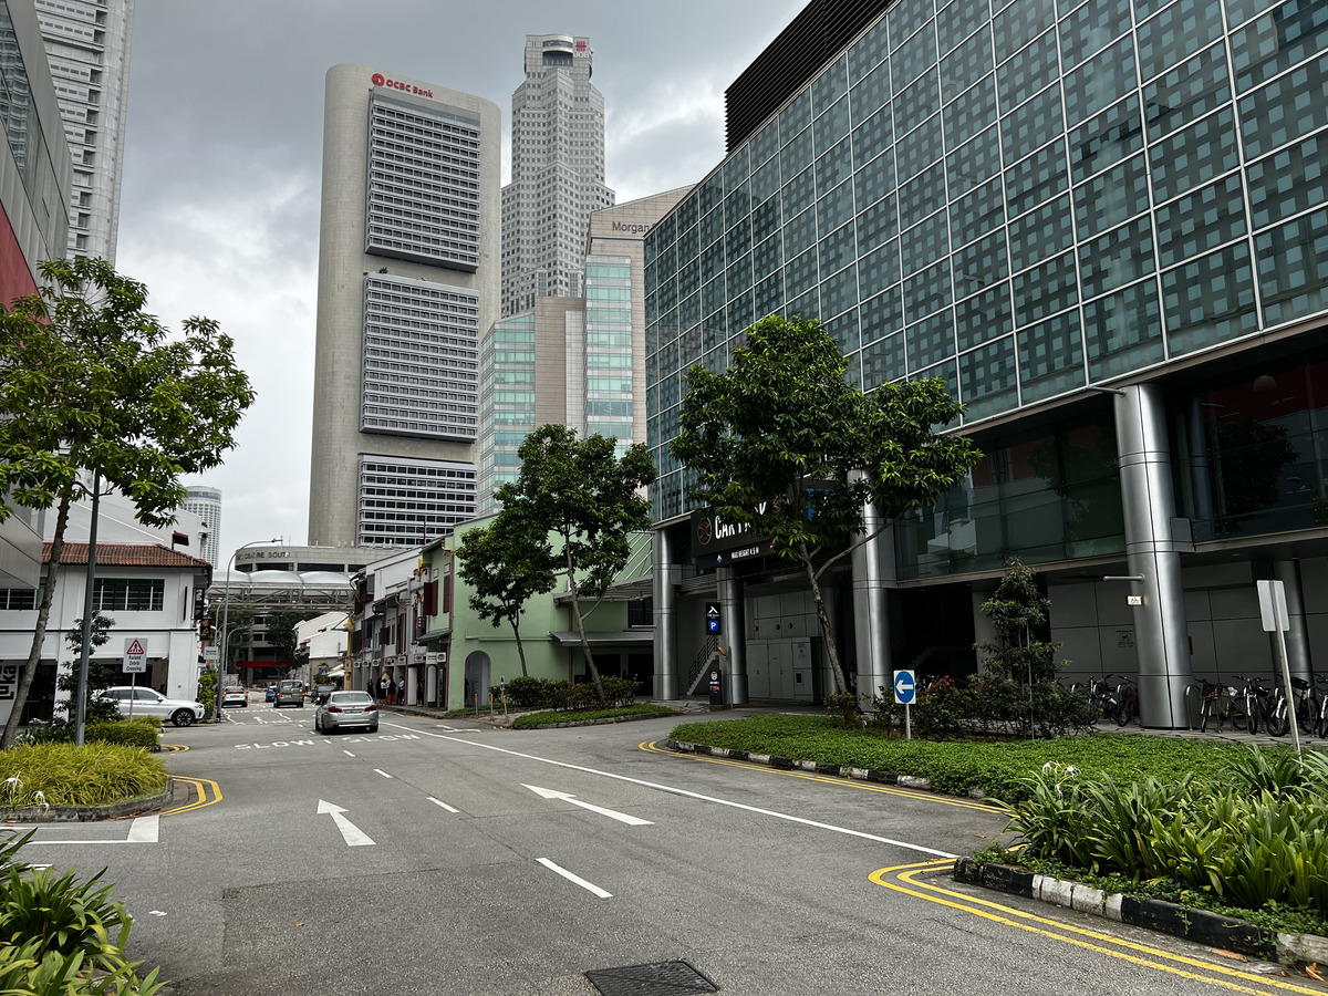
[[[673,740],[778,754],[822,765],[865,768],[927,778],[936,791],[1015,802],[1027,798],[1024,778],[1048,762],[1073,765],[1085,778],[1143,774],[1177,782],[1186,774],[1218,778],[1243,748],[1145,734],[1062,737],[1029,741],[906,741],[871,729],[843,729],[829,716],[753,716],[745,720],[685,722]]]

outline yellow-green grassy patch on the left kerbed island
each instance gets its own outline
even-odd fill
[[[33,805],[37,791],[52,806],[105,806],[165,790],[166,766],[137,746],[31,744],[0,752],[0,805],[12,809]]]

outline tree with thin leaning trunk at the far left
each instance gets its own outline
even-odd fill
[[[100,259],[39,263],[44,287],[0,309],[0,519],[56,509],[32,649],[0,748],[13,744],[41,660],[70,506],[93,474],[165,526],[181,479],[222,462],[254,401],[234,341],[205,317],[171,336],[147,290]],[[89,473],[92,471],[92,473]]]

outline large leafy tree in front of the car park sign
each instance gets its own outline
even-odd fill
[[[863,394],[846,371],[819,321],[762,319],[726,371],[688,371],[669,448],[695,475],[695,502],[749,523],[777,556],[802,566],[838,691],[847,683],[821,578],[961,482],[981,457],[969,440],[934,432],[963,410],[942,381],[883,384]],[[880,518],[865,533],[869,503]]]

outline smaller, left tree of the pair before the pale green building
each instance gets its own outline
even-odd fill
[[[466,533],[457,548],[457,574],[474,590],[470,608],[495,629],[503,622],[511,627],[522,677],[530,672],[521,641],[521,616],[531,596],[554,588],[554,568],[544,555],[547,535],[542,523],[513,509]]]

